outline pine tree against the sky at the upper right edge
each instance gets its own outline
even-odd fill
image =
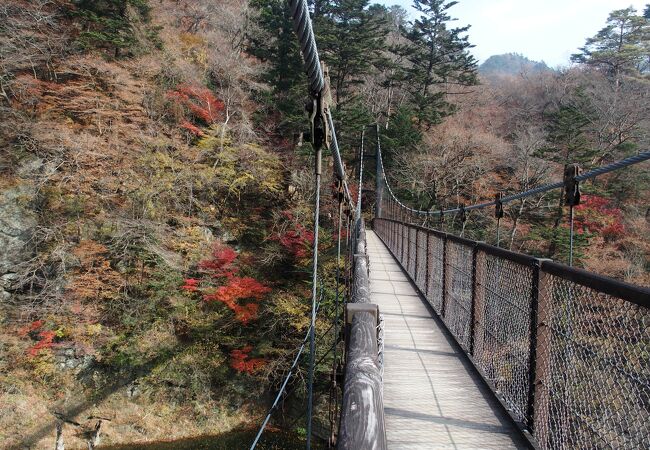
[[[647,70],[649,41],[650,21],[637,16],[633,7],[619,9],[610,13],[605,28],[587,39],[571,60],[603,70],[618,86],[624,75]]]

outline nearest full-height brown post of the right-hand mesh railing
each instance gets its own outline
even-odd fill
[[[542,442],[545,436],[538,436],[537,430],[534,430],[535,422],[548,423],[548,396],[543,389],[543,384],[546,383],[550,370],[548,323],[551,319],[552,305],[550,276],[542,270],[543,261],[537,260],[533,265],[526,425],[541,447],[547,448],[547,445]]]

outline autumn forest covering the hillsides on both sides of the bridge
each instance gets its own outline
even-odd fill
[[[570,68],[482,79],[454,3],[415,0],[411,20],[313,2],[350,172],[375,122],[391,184],[428,210],[650,148],[650,6],[613,11]],[[306,94],[283,0],[0,5],[0,447],[52,448],[57,423],[68,448],[97,423],[106,444],[259,425],[309,325]],[[324,185],[327,428],[337,205]],[[577,265],[650,285],[649,189],[647,164],[583,186]],[[564,262],[566,214],[559,193],[514,202],[500,244]],[[445,226],[495,242],[491,210]],[[305,372],[274,420],[297,441]]]

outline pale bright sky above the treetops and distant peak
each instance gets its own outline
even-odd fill
[[[398,4],[416,14],[411,0],[377,0]],[[472,53],[485,61],[492,55],[521,53],[551,67],[570,63],[572,53],[605,26],[609,13],[634,6],[639,14],[650,0],[459,0],[449,13],[454,27],[471,25]],[[415,17],[415,16],[412,16]]]

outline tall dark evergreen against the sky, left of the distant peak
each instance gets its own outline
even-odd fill
[[[465,33],[469,26],[448,28],[448,10],[458,2],[448,0],[414,0],[421,16],[404,30],[408,45],[400,52],[408,58],[406,80],[411,101],[420,123],[439,123],[452,114],[447,101],[452,89],[478,83],[476,60],[469,53],[473,46]]]

